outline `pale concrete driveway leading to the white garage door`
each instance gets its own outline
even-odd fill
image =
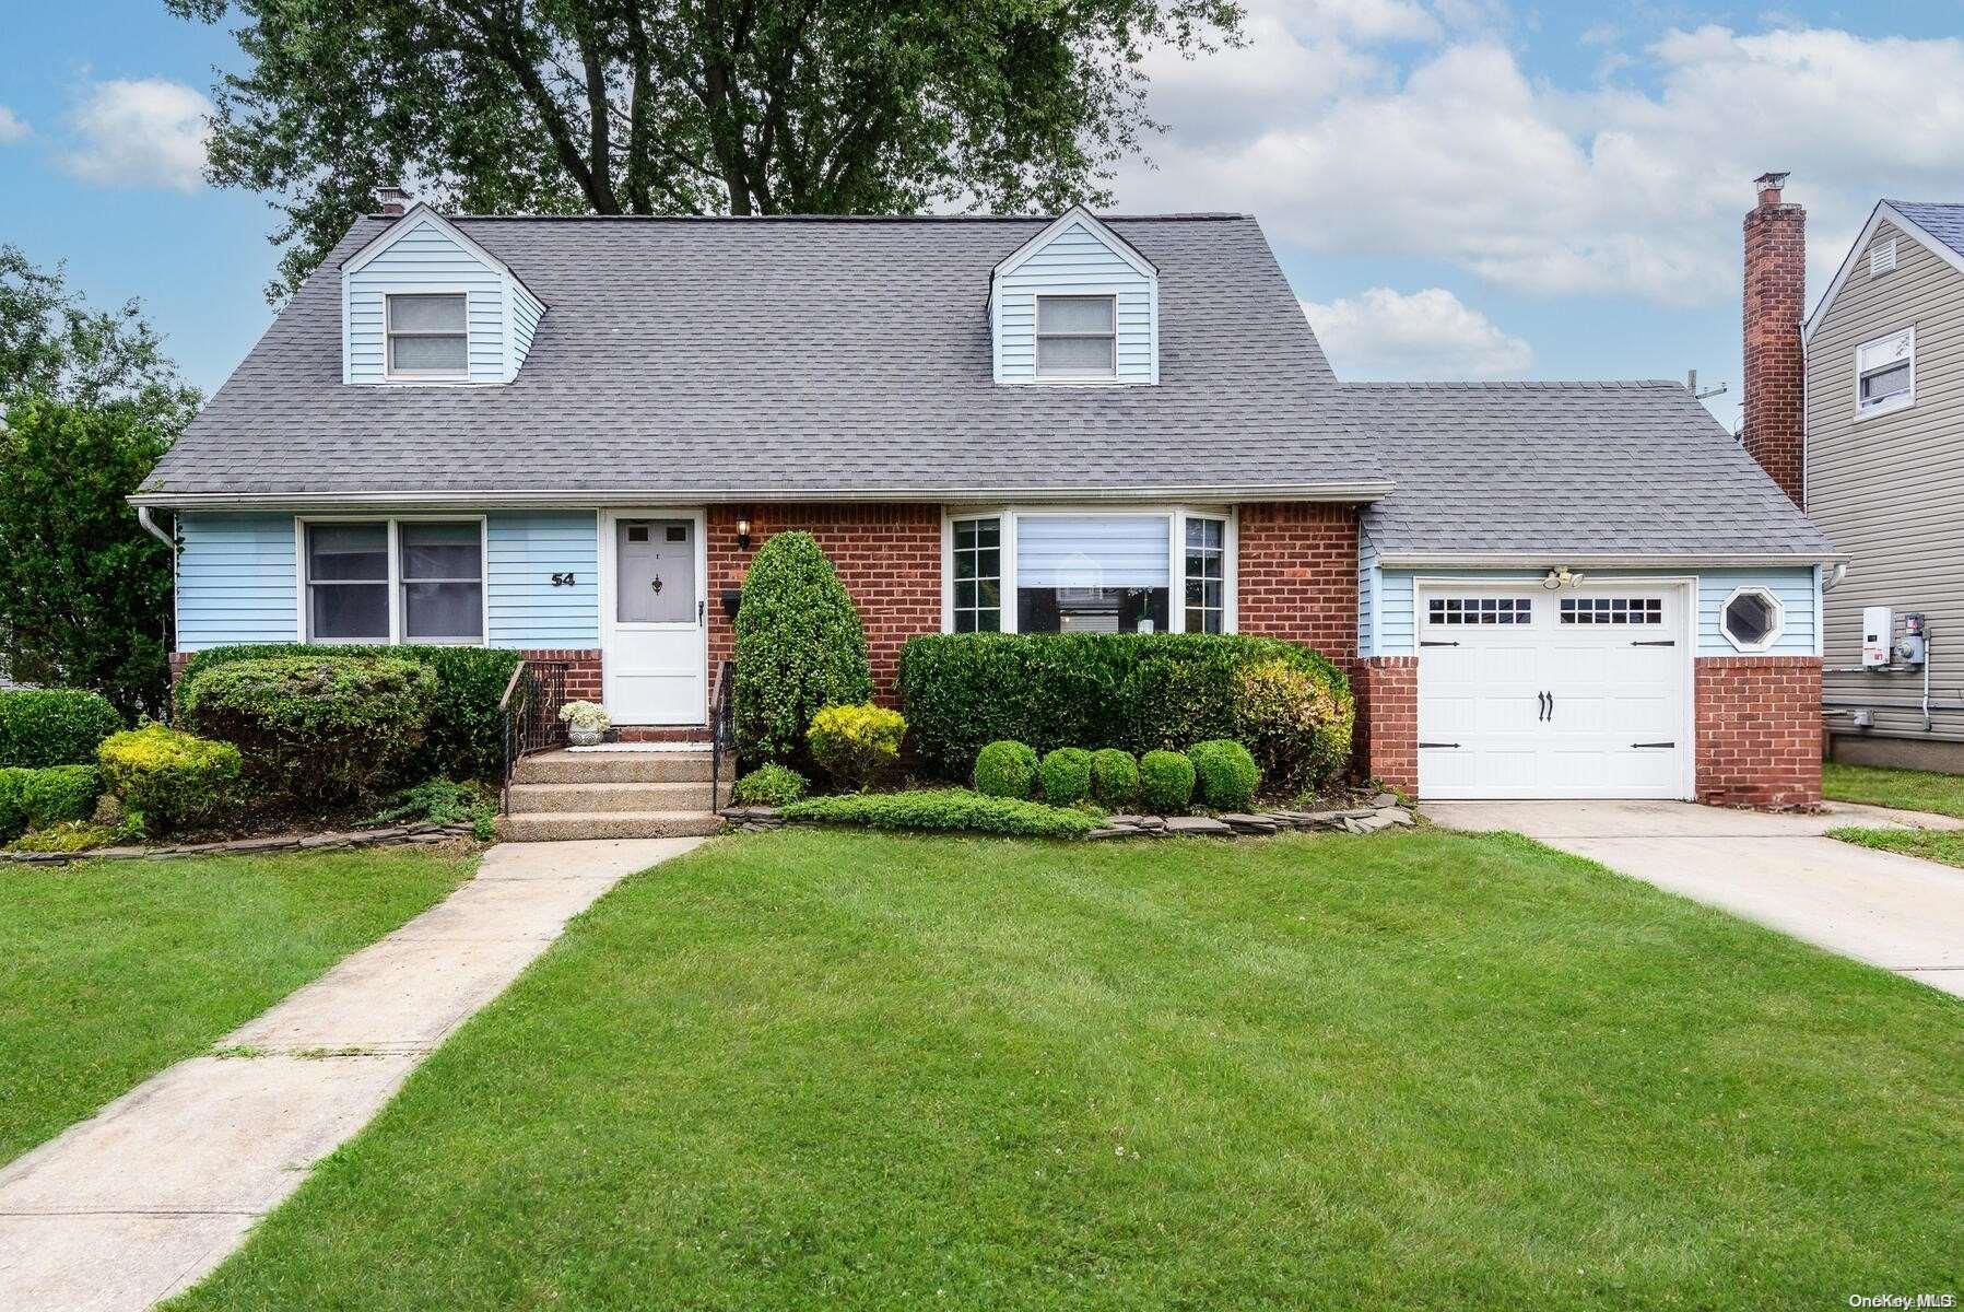
[[[1964,998],[1964,870],[1823,837],[1964,821],[1828,803],[1762,815],[1689,801],[1438,801],[1438,825],[1510,829],[1673,894]]]

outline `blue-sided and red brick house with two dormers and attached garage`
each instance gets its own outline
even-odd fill
[[[807,528],[882,695],[919,632],[1259,632],[1428,797],[1819,795],[1836,556],[1705,409],[1341,385],[1245,216],[383,214],[136,501],[185,652],[520,648],[627,737]]]

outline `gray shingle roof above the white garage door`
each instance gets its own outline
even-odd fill
[[[1396,479],[1363,517],[1387,556],[1832,554],[1679,383],[1337,391]]]

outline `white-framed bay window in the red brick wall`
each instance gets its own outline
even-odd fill
[[[1228,515],[1184,509],[956,515],[947,629],[1228,632],[1229,542]]]

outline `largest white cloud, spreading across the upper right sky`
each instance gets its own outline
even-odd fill
[[[1707,26],[1636,51],[1656,90],[1559,88],[1432,14],[1444,35],[1400,63],[1379,29],[1255,4],[1269,45],[1188,65],[1173,102],[1155,88],[1171,134],[1157,171],[1119,177],[1125,208],[1251,210],[1312,251],[1446,261],[1524,293],[1717,304],[1738,295],[1766,169],[1791,169],[1813,214],[1817,287],[1880,194],[1960,198],[1960,39]],[[1190,132],[1182,106],[1212,108]]]

